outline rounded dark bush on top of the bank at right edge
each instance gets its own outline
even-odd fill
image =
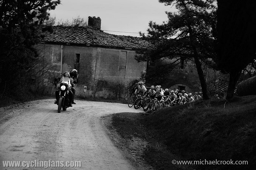
[[[237,86],[237,94],[239,96],[255,95],[256,94],[256,76],[250,77],[247,80],[242,81]]]

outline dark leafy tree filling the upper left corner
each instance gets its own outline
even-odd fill
[[[38,66],[45,61],[35,48],[40,39],[35,27],[49,19],[48,10],[54,10],[58,4],[60,0],[0,0],[0,89],[4,89],[1,95],[40,71]]]

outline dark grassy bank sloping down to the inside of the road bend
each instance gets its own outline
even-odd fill
[[[165,108],[148,116],[116,114],[113,126],[123,138],[150,145],[143,152],[156,169],[255,169],[256,96],[201,101],[194,106]],[[225,104],[225,108],[224,108]],[[136,118],[135,118],[136,117]],[[248,165],[178,167],[172,160],[245,160]]]

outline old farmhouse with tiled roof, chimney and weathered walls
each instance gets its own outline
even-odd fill
[[[139,37],[119,36],[103,32],[100,17],[89,17],[88,26],[53,26],[51,32],[40,29],[40,54],[54,65],[45,82],[71,69],[77,69],[79,82],[76,96],[92,96],[97,82],[127,85],[146,71],[146,62],[134,59],[135,50],[148,48],[149,42]],[[52,87],[53,89],[54,87]],[[97,96],[108,97],[104,87]]]

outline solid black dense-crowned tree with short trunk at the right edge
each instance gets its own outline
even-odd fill
[[[227,100],[233,98],[242,70],[256,59],[255,11],[256,1],[218,0],[215,62],[230,75]]]

